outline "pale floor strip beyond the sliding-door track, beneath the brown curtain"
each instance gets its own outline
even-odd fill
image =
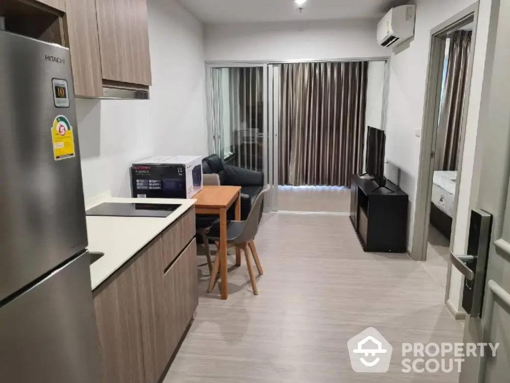
[[[278,186],[278,210],[350,211],[350,189],[338,186]]]

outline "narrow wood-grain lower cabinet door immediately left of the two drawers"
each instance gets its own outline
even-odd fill
[[[169,361],[166,352],[166,304],[161,235],[135,262],[140,297],[146,383],[156,383]]]

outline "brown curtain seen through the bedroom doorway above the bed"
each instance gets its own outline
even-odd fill
[[[461,124],[471,49],[471,31],[455,31],[450,37],[446,81],[439,118],[438,170],[457,170]]]

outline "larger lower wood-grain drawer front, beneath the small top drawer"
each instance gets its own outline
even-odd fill
[[[165,273],[166,341],[174,353],[198,306],[196,241],[193,240]]]

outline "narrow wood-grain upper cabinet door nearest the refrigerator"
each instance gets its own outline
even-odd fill
[[[82,97],[101,97],[103,77],[95,0],[65,1],[65,42],[71,53],[74,94]]]

